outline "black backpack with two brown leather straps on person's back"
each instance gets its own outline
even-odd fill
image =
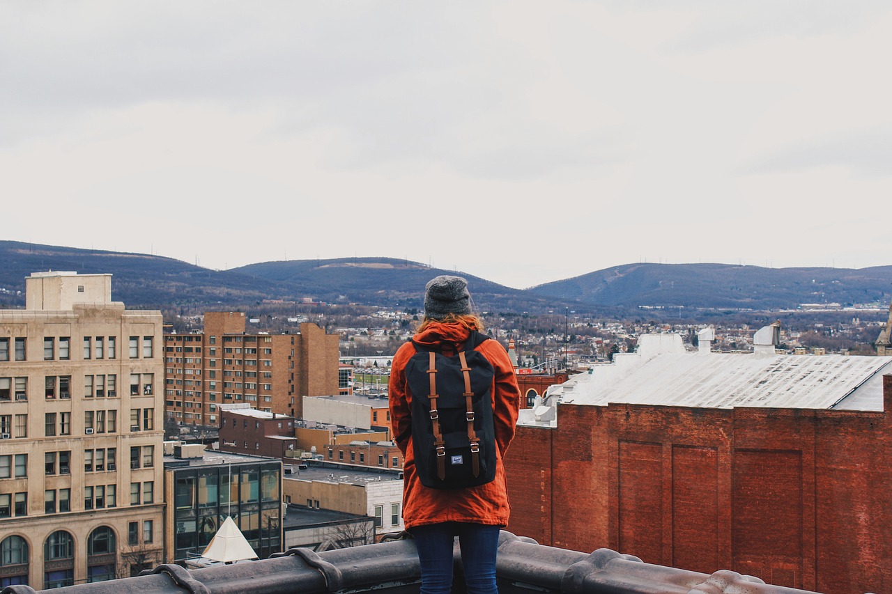
[[[416,353],[406,364],[406,381],[412,391],[415,466],[425,487],[460,489],[495,479],[490,393],[495,369],[475,351],[488,339],[472,331],[464,350],[445,345],[450,355],[412,341]]]

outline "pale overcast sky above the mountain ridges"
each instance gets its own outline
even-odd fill
[[[889,30],[884,1],[3,0],[0,239],[515,288],[889,265]]]

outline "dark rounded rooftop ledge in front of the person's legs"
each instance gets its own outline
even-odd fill
[[[385,536],[378,544],[315,553],[291,549],[260,561],[186,570],[160,565],[143,574],[110,582],[68,586],[55,594],[321,594],[323,592],[418,591],[415,542],[405,533]],[[461,560],[456,547],[456,567]],[[591,555],[544,547],[534,540],[502,531],[496,573],[500,594],[531,592],[618,594],[795,594],[731,571],[712,575],[642,563],[638,557],[598,549]],[[460,582],[458,578],[457,582]],[[30,586],[8,586],[0,594],[33,594]],[[464,592],[461,585],[455,590]]]

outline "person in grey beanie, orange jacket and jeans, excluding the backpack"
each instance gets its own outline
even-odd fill
[[[481,319],[471,308],[467,281],[437,276],[425,286],[425,317],[413,341],[450,356],[464,351]],[[412,342],[393,357],[389,399],[392,434],[403,454],[403,523],[412,535],[421,567],[421,593],[445,594],[452,588],[453,541],[458,537],[469,594],[493,594],[500,528],[508,525],[510,505],[502,458],[514,438],[520,389],[508,352],[497,341],[484,340],[481,352],[494,369],[490,394],[496,444],[496,472],[490,483],[458,489],[425,487],[418,476],[412,442],[412,398],[406,366],[417,352]],[[426,394],[425,394],[426,397]]]

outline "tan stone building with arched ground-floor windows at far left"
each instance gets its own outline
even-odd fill
[[[0,310],[0,587],[128,576],[162,557],[159,311],[111,275],[35,273]]]

